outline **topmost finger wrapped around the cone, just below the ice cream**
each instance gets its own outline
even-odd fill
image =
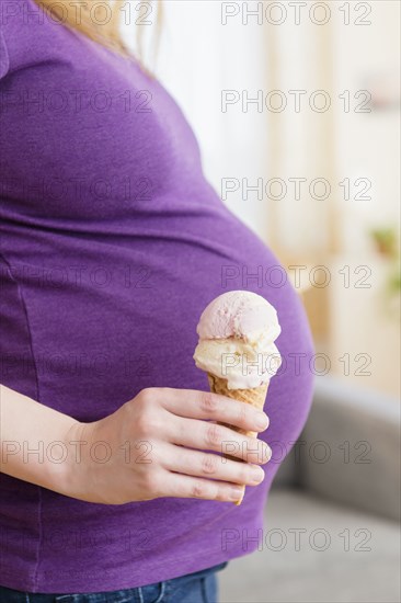
[[[268,426],[268,417],[263,411],[226,396],[195,389],[163,388],[159,391],[164,408],[179,417],[220,421],[257,433]]]

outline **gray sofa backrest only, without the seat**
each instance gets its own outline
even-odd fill
[[[318,378],[308,422],[277,473],[277,486],[399,520],[400,401]]]

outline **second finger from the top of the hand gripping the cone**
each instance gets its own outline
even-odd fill
[[[270,446],[262,440],[209,421],[175,417],[165,423],[164,432],[168,442],[186,448],[229,454],[256,465],[263,465],[272,457]]]

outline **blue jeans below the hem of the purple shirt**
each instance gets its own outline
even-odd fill
[[[88,594],[41,594],[0,587],[1,603],[217,603],[216,572],[227,562],[147,587]]]

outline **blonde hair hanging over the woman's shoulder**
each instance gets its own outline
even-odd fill
[[[133,52],[124,42],[122,35],[123,16],[125,23],[135,20],[137,58],[149,75],[151,71],[144,65],[144,26],[154,25],[153,53],[157,55],[161,34],[162,0],[144,0],[134,10],[129,2],[124,0],[35,0],[49,16],[67,27],[79,31],[98,44],[105,46],[123,56],[133,56]],[[156,10],[157,5],[157,10]],[[138,10],[139,9],[139,10]],[[139,13],[141,9],[142,14]],[[149,20],[150,15],[156,18]]]

